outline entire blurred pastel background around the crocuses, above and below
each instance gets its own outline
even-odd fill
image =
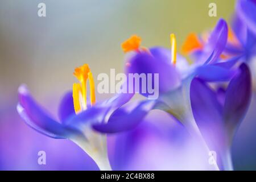
[[[46,18],[37,15],[40,2],[46,3]],[[217,4],[217,17],[208,16],[210,2]],[[130,35],[141,36],[143,46],[170,47],[168,37],[173,32],[180,47],[189,32],[208,30],[218,18],[229,20],[234,4],[234,0],[1,0],[0,169],[97,169],[72,142],[47,138],[23,123],[15,109],[20,84],[26,83],[36,99],[56,117],[61,96],[76,81],[72,75],[75,67],[88,63],[94,76],[109,73],[110,68],[122,72],[124,55],[120,44]],[[98,94],[97,100],[107,97],[110,96]],[[250,113],[253,114],[253,109]],[[248,114],[234,142],[235,169],[256,169],[256,125],[251,118]],[[128,133],[133,135],[129,139],[138,143],[135,151],[125,150],[125,144],[129,143],[123,139],[126,134],[110,136],[109,155],[113,168],[189,169],[189,165],[192,168],[200,164],[197,163],[200,157],[195,157],[199,154],[196,150],[192,156],[189,156],[190,151],[186,152],[186,135],[178,132],[180,126],[171,122],[164,126],[170,128],[164,130],[167,135],[160,135],[155,129],[151,131],[150,127],[147,130],[143,123]],[[148,145],[147,141],[150,141]],[[46,166],[37,163],[40,150],[46,151]],[[129,155],[125,154],[128,151]],[[172,152],[169,156],[168,151]],[[175,157],[175,154],[180,156]],[[151,160],[155,156],[159,158]],[[131,162],[127,164],[126,160]]]

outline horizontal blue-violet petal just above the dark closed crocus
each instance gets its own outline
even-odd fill
[[[218,67],[216,65],[203,65],[196,69],[199,78],[205,81],[227,81],[234,76],[236,71]]]

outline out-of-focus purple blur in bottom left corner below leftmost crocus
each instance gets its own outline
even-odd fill
[[[98,170],[92,158],[71,140],[56,140],[31,130],[13,107],[0,114],[0,121],[2,170]],[[46,165],[38,164],[42,150],[46,151]]]

